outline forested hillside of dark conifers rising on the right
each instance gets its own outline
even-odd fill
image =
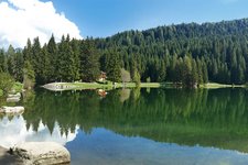
[[[122,66],[141,80],[244,84],[247,74],[248,19],[159,26],[98,38],[99,50],[117,47]],[[133,77],[132,77],[133,78]]]

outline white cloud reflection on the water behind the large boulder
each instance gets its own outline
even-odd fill
[[[21,142],[52,141],[65,145],[67,142],[73,141],[77,134],[77,132],[68,132],[67,134],[61,133],[61,128],[57,122],[54,124],[53,132],[50,132],[47,127],[42,122],[39,123],[35,131],[32,127],[28,129],[22,116],[15,116],[11,119],[3,117],[0,122],[0,145],[7,148]]]

